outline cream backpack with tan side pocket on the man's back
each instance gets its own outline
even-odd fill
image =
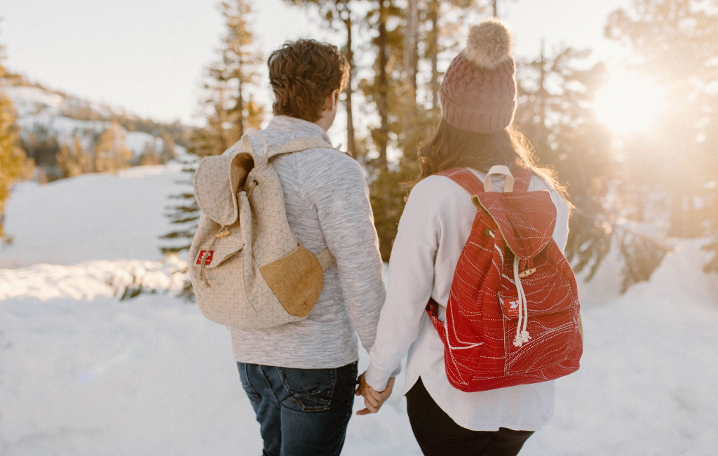
[[[299,138],[271,152],[253,149],[248,131],[224,154],[197,166],[195,199],[202,217],[190,247],[190,278],[202,315],[241,328],[303,320],[334,262],[328,249],[314,256],[297,241],[286,220],[284,194],[270,159],[327,147]]]

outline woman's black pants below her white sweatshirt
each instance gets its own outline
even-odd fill
[[[406,394],[406,409],[414,437],[426,456],[516,456],[531,431],[470,431],[439,408],[421,378]]]

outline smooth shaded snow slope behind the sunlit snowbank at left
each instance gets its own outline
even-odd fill
[[[133,167],[117,175],[86,174],[46,185],[24,182],[6,205],[10,246],[0,245],[0,267],[40,262],[162,259],[159,236],[170,231],[169,195],[191,190],[180,164]]]

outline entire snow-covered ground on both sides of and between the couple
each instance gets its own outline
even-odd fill
[[[182,178],[144,167],[14,189],[15,241],[0,247],[0,455],[261,453],[228,332],[172,297],[182,261],[157,250]],[[701,272],[699,247],[678,243],[623,296],[612,262],[582,284],[582,368],[559,379],[554,420],[522,455],[718,454],[718,276]],[[137,276],[170,292],[118,300]],[[352,419],[342,452],[420,454],[398,394]]]

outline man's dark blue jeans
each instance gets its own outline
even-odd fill
[[[294,369],[237,363],[264,456],[336,456],[352,416],[357,363]]]

